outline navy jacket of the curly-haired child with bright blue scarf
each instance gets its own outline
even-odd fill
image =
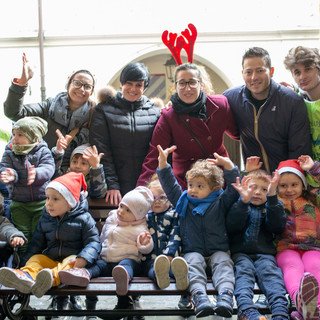
[[[168,199],[176,206],[183,191],[173,175],[171,166],[168,164],[161,170],[157,169],[157,173]],[[225,219],[228,210],[239,198],[238,192],[231,186],[239,176],[238,167],[224,171],[226,189],[203,216],[192,214],[195,205],[189,201],[185,217],[179,216],[182,253],[198,252],[204,257],[209,257],[217,251],[229,250]]]

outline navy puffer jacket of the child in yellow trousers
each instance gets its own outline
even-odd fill
[[[76,255],[89,265],[93,264],[101,251],[101,244],[96,223],[87,209],[88,202],[82,195],[78,206],[62,219],[51,217],[44,207],[21,266],[35,254],[44,254],[60,262]]]

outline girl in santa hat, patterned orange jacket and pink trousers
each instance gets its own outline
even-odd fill
[[[320,198],[318,192],[309,191],[304,171],[312,174],[311,169],[315,170],[309,156],[282,161],[278,167],[278,195],[286,209],[287,222],[276,258],[296,304],[297,311],[291,317],[297,320],[320,319]]]

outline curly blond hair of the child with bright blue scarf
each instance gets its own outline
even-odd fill
[[[224,185],[222,169],[218,166],[212,165],[207,160],[196,161],[191,169],[186,173],[187,181],[199,177],[204,178],[211,189],[216,187],[222,188]]]

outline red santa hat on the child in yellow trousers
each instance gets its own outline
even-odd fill
[[[68,172],[61,177],[52,180],[47,188],[57,190],[68,202],[71,208],[74,208],[80,199],[81,190],[87,191],[87,184],[83,173]]]

